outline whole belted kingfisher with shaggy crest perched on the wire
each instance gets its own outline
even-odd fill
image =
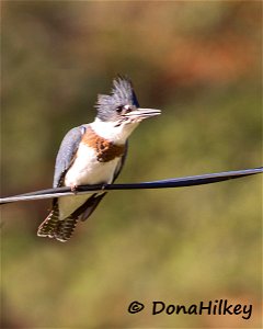
[[[110,95],[99,94],[95,121],[75,127],[60,145],[53,186],[113,183],[127,155],[127,138],[138,124],[161,113],[160,110],[139,109],[132,81],[117,77]],[[70,239],[79,220],[85,220],[106,192],[56,197],[37,236]]]

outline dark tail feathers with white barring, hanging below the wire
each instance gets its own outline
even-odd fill
[[[59,220],[58,202],[55,201],[52,212],[38,227],[37,236],[55,238],[58,241],[66,242],[70,239],[77,222],[78,217],[75,217],[72,215],[65,218],[64,220]]]

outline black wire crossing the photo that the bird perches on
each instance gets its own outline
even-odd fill
[[[225,171],[217,173],[207,173],[201,175],[190,175],[183,178],[152,181],[152,182],[141,182],[141,183],[124,183],[124,184],[96,184],[96,185],[81,185],[78,186],[76,192],[72,192],[70,188],[56,188],[42,191],[30,192],[26,194],[20,194],[15,196],[8,196],[0,198],[0,205],[18,201],[32,201],[42,198],[53,198],[58,196],[67,196],[75,194],[85,194],[94,193],[100,191],[116,191],[116,190],[141,190],[141,189],[167,189],[167,188],[185,188],[194,185],[211,184],[217,182],[222,182],[226,180],[232,180],[238,178],[243,178],[247,175],[258,174],[263,172],[263,167],[236,170],[236,171]]]

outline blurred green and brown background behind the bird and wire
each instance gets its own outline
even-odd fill
[[[261,27],[260,1],[2,2],[1,194],[52,186],[64,135],[117,73],[162,110],[118,182],[261,166]],[[2,328],[261,327],[261,177],[108,193],[67,243],[36,237],[49,203],[1,207]],[[150,310],[220,298],[252,317]]]

